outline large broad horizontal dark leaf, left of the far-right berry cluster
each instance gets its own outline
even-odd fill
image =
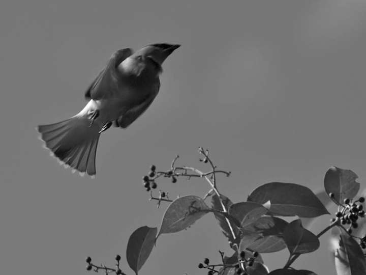
[[[248,201],[259,204],[270,201],[270,212],[279,216],[316,217],[329,214],[312,190],[294,183],[263,184],[249,195]]]

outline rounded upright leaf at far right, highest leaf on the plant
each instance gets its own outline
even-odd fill
[[[334,194],[334,201],[342,204],[344,199],[352,200],[358,193],[358,176],[351,170],[330,167],[325,173],[324,188],[327,194]]]

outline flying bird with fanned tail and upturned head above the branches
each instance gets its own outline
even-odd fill
[[[135,52],[131,48],[115,51],[87,87],[88,102],[78,114],[37,127],[50,155],[73,173],[94,178],[101,133],[111,126],[127,128],[146,111],[159,92],[163,62],[179,46],[158,43]]]

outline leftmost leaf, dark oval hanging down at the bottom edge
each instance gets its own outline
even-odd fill
[[[127,244],[127,262],[136,275],[153,250],[158,228],[143,226],[135,230]]]

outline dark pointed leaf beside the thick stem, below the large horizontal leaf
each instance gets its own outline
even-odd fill
[[[284,231],[284,240],[291,254],[310,253],[319,248],[319,239],[312,232],[304,229],[300,219],[292,221]]]

